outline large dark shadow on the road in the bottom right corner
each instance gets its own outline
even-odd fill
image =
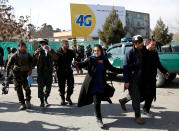
[[[109,119],[115,119],[114,122],[108,123],[107,127],[117,128],[145,128],[154,130],[169,130],[178,131],[179,129],[179,112],[174,111],[161,111],[159,113],[153,113],[157,118],[144,118],[145,124],[138,125],[132,117],[109,117]]]

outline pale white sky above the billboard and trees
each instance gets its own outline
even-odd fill
[[[149,13],[151,29],[160,17],[171,32],[179,22],[179,0],[9,0],[15,15],[31,14],[32,24],[47,23],[62,30],[71,29],[70,3],[124,6],[126,10]]]

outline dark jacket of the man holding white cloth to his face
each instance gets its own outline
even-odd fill
[[[41,73],[43,70],[43,66],[44,66],[44,61],[43,61],[43,57],[45,55],[45,51],[42,49],[42,47],[40,47],[39,49],[37,49],[35,51],[35,53],[33,54],[33,67],[37,66],[37,73]],[[48,69],[52,72],[53,71],[53,63],[55,61],[58,60],[58,56],[56,54],[56,52],[51,49],[51,51],[49,51],[47,53],[47,59],[48,59]]]

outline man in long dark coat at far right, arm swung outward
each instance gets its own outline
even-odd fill
[[[141,101],[145,101],[143,106],[144,114],[152,117],[150,108],[153,100],[156,100],[156,75],[159,69],[165,77],[168,78],[168,71],[161,65],[160,59],[156,49],[156,42],[154,39],[149,39],[146,42],[146,51],[144,59],[144,69],[142,73],[142,86],[141,86]]]

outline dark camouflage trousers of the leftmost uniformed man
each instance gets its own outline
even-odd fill
[[[17,96],[20,104],[25,104],[26,101],[31,99],[31,90],[28,86],[27,76],[28,72],[13,72],[14,73],[14,85],[17,91]],[[24,99],[23,89],[25,90],[26,99]]]

